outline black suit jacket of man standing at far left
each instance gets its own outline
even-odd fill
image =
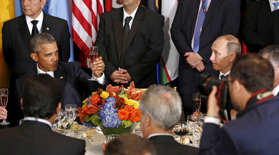
[[[59,49],[59,60],[68,62],[70,57],[70,32],[66,20],[47,15],[43,12],[42,33],[51,34]],[[48,28],[48,29],[47,29]],[[35,67],[30,57],[31,34],[26,24],[25,15],[11,19],[3,24],[3,56],[12,70],[12,78],[18,79]]]

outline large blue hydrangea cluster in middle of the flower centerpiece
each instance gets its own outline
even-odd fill
[[[105,127],[117,127],[121,125],[121,120],[117,116],[117,108],[113,108],[115,103],[115,99],[113,97],[109,97],[106,99],[104,106],[100,107],[98,115],[99,119],[102,121],[103,126]]]

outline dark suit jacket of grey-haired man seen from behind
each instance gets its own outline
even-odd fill
[[[150,137],[149,140],[154,145],[158,155],[196,155],[198,154],[198,149],[187,146],[181,145],[173,139],[172,136],[168,135],[159,135]]]

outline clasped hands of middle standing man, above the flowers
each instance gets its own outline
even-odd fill
[[[131,76],[126,69],[115,70],[110,78],[116,83],[128,83],[131,81]]]

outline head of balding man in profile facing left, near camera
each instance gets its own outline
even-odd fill
[[[210,60],[213,69],[220,71],[219,80],[228,76],[232,64],[241,53],[241,45],[236,37],[226,34],[218,37],[212,44]]]

